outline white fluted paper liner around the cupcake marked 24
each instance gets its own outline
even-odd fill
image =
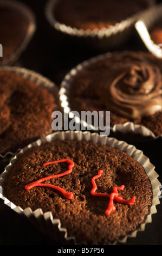
[[[129,145],[124,141],[118,141],[115,138],[110,138],[106,136],[99,136],[97,133],[90,133],[88,131],[62,131],[52,133],[44,139],[38,139],[38,141],[31,143],[27,147],[22,149],[21,152],[17,155],[24,153],[29,148],[35,145],[41,145],[46,142],[55,141],[56,139],[86,139],[86,141],[107,144],[111,147],[115,147],[122,151],[125,151],[128,155],[132,156],[133,159],[137,160],[141,164],[141,166],[144,167],[145,172],[151,181],[153,190],[153,200],[150,214],[147,216],[145,223],[140,225],[139,229],[133,231],[132,234],[125,236],[124,239],[114,242],[113,245],[115,245],[117,242],[126,243],[128,237],[135,237],[138,231],[144,231],[146,223],[151,223],[152,215],[157,212],[156,206],[160,204],[158,197],[160,182],[158,181],[158,174],[155,172],[154,166],[150,163],[150,160],[142,153],[142,151],[136,149],[133,145]],[[10,172],[12,164],[16,162],[17,155],[10,161],[4,172],[1,174],[0,198],[2,198],[4,200],[4,204],[8,205],[12,210],[16,211],[18,214],[27,217],[27,219],[31,223],[33,223],[40,231],[42,231],[43,234],[46,234],[48,237],[50,237],[50,239],[54,240],[55,242],[58,241],[62,245],[77,245],[75,237],[68,236],[67,230],[61,227],[61,221],[59,219],[55,219],[50,211],[43,214],[43,211],[41,209],[32,211],[30,208],[26,208],[23,210],[20,206],[13,204],[12,202],[10,202],[9,199],[3,196],[3,182],[5,179],[7,179],[7,174],[8,172]],[[83,243],[85,243],[86,245],[86,242],[83,241]]]

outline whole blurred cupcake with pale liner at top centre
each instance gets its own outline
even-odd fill
[[[51,26],[66,35],[107,50],[125,42],[138,15],[154,1],[50,0],[46,16]]]

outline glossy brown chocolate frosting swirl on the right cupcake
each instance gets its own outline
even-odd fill
[[[97,89],[100,99],[106,102],[106,108],[129,119],[161,111],[162,80],[159,67],[144,61],[140,54],[129,54],[129,59],[122,61],[119,56],[116,60],[108,67],[107,74],[102,72],[101,87]]]

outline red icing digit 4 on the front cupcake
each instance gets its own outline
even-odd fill
[[[108,204],[108,208],[107,210],[105,211],[105,214],[106,215],[109,215],[111,214],[112,211],[115,211],[116,208],[114,206],[114,199],[116,200],[116,202],[118,203],[122,203],[122,204],[128,204],[128,205],[132,205],[134,204],[135,202],[135,197],[133,197],[131,200],[125,200],[123,199],[122,197],[119,197],[119,194],[118,194],[118,190],[124,190],[124,185],[122,185],[121,187],[113,187],[113,193],[111,193],[110,195],[109,194],[106,194],[106,193],[96,193],[95,191],[97,190],[97,186],[96,186],[96,183],[95,183],[95,179],[98,179],[101,177],[103,173],[103,170],[99,170],[98,172],[98,175],[94,176],[92,178],[92,184],[93,184],[93,188],[92,190],[90,191],[90,193],[92,194],[92,196],[96,196],[96,197],[108,197],[109,198],[109,204]]]

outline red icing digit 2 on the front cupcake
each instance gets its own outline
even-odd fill
[[[61,176],[67,175],[67,174],[72,172],[73,167],[74,167],[74,162],[72,160],[69,160],[69,159],[62,159],[62,160],[58,160],[58,161],[43,163],[43,167],[45,167],[45,166],[47,166],[49,164],[60,163],[60,162],[68,162],[69,163],[69,167],[68,167],[68,170],[66,170],[66,172],[63,172],[63,173],[60,173],[60,174],[51,175],[51,176],[47,176],[47,177],[42,178],[40,180],[36,180],[36,181],[26,185],[25,189],[26,190],[30,190],[30,188],[33,188],[33,187],[36,187],[36,186],[51,187],[51,188],[54,188],[55,190],[60,191],[65,198],[72,199],[73,198],[73,193],[72,192],[66,192],[61,187],[57,187],[57,186],[54,186],[54,185],[51,185],[51,184],[44,184],[44,183],[42,183],[45,180],[59,178]]]

